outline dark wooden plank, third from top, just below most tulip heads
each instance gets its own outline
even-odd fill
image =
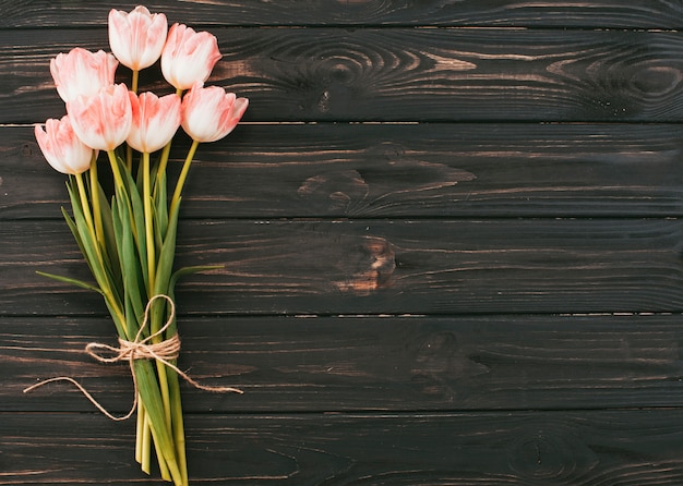
[[[200,146],[183,215],[675,217],[682,141],[669,124],[242,125]],[[0,127],[0,219],[60,219],[64,177],[33,127]]]

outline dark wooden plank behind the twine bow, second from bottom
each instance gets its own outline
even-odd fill
[[[189,317],[180,367],[192,413],[541,410],[680,406],[680,316]],[[88,342],[116,345],[105,318],[0,319],[0,411],[95,412],[79,379],[111,412],[132,403],[125,364],[104,365]]]

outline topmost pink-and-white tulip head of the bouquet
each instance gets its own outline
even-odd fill
[[[109,12],[109,46],[121,64],[134,71],[148,68],[161,56],[168,24],[163,13],[142,5],[130,13]]]

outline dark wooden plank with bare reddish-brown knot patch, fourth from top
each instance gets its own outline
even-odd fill
[[[674,219],[197,220],[178,265],[224,265],[179,287],[193,314],[679,312]],[[59,221],[3,221],[2,315],[100,313]]]

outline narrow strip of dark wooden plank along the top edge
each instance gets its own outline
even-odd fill
[[[627,3],[627,4],[626,4]],[[667,0],[527,2],[515,0],[212,0],[146,2],[169,22],[201,25],[441,25],[681,28],[683,7]],[[0,27],[101,26],[109,8],[130,11],[133,3],[0,1]]]

